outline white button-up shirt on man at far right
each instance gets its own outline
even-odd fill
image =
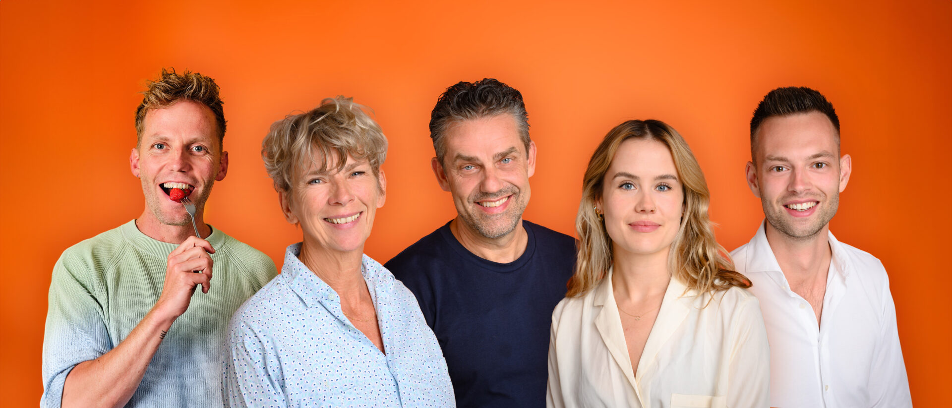
[[[833,258],[819,326],[810,304],[790,290],[764,223],[730,254],[761,301],[770,340],[770,406],[911,407],[883,263],[832,233],[829,243]]]

